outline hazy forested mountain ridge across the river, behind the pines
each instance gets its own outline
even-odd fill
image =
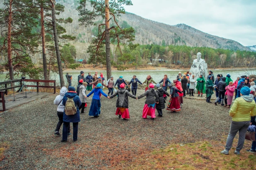
[[[98,27],[79,25],[78,19],[80,16],[75,10],[78,5],[76,0],[58,0],[57,2],[65,6],[65,12],[61,13],[60,17],[71,17],[73,19],[72,24],[65,24],[64,27],[68,34],[77,37],[74,45],[78,50],[85,50],[95,36],[93,31],[97,32]],[[162,41],[165,41],[166,45],[187,45],[251,51],[250,48],[243,46],[237,41],[213,36],[186,24],[172,26],[145,19],[129,12],[121,14],[120,17],[117,17],[117,20],[120,25],[132,26],[135,29],[135,41],[133,43],[161,45]],[[98,21],[101,23],[103,19],[99,18]]]

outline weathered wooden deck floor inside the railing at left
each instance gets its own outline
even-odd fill
[[[38,98],[43,98],[45,96],[48,96],[52,93],[46,93],[46,92],[34,92],[32,91],[31,93],[27,91],[27,98],[24,98],[25,92],[21,93],[14,93],[15,96],[15,101],[13,100],[13,93],[9,93],[7,96],[5,96],[5,108],[6,110],[13,108],[15,106],[28,103],[30,101],[34,101]],[[0,111],[2,111],[2,103],[0,103]]]

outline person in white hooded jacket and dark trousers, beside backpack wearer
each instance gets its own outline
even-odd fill
[[[60,89],[60,95],[56,96],[55,100],[54,100],[54,104],[55,105],[58,105],[58,108],[57,108],[57,115],[59,117],[59,122],[56,126],[56,129],[55,129],[55,132],[54,132],[54,135],[55,136],[60,136],[60,127],[61,125],[63,124],[63,113],[64,113],[64,108],[65,106],[62,104],[62,101],[63,101],[63,97],[65,95],[65,93],[68,92],[68,89],[66,87],[62,87]],[[68,136],[70,136],[71,133],[70,133],[70,123],[68,125]]]

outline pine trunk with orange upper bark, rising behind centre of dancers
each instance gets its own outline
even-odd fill
[[[106,69],[107,79],[111,76],[111,61],[110,61],[110,37],[109,37],[109,0],[105,0],[105,41],[106,41]]]

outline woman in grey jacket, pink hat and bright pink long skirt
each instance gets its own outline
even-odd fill
[[[158,96],[154,89],[154,85],[152,83],[149,84],[149,89],[145,91],[142,95],[138,96],[137,98],[140,99],[142,97],[146,96],[145,105],[143,108],[142,117],[144,119],[147,119],[147,115],[151,116],[151,119],[155,119],[155,108],[156,103],[158,104]]]

